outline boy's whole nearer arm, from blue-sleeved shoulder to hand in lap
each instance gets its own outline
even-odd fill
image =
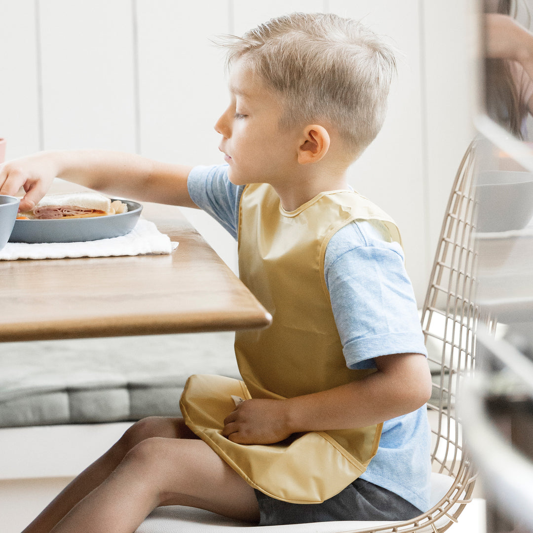
[[[415,296],[401,249],[384,240],[386,235],[379,223],[350,224],[330,239],[325,259],[346,364],[370,368],[360,365],[372,359],[376,372],[288,400],[247,400],[225,420],[230,440],[267,443],[293,432],[364,427],[424,405],[431,375],[425,354],[418,353],[424,337]]]

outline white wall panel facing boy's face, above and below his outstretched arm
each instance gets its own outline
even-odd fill
[[[184,164],[223,163],[216,119],[228,105],[223,53],[226,2],[137,0],[140,125],[143,155]],[[237,270],[237,245],[209,215],[182,209],[209,244]]]

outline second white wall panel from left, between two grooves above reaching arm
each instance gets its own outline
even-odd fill
[[[41,9],[45,148],[135,148],[130,0],[46,0]]]

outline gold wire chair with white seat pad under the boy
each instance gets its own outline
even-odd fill
[[[422,310],[422,328],[434,375],[432,399],[427,406],[433,433],[432,508],[405,522],[320,522],[274,529],[284,533],[310,530],[330,533],[442,533],[457,522],[465,505],[471,501],[476,476],[464,446],[456,400],[462,378],[471,375],[474,368],[475,329],[480,319],[474,304],[474,166],[473,142],[461,161],[451,189]],[[156,510],[138,533],[222,533],[245,525],[222,517],[219,520],[215,516],[190,508]],[[263,528],[246,529],[255,531]]]

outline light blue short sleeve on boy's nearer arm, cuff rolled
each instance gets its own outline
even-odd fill
[[[384,224],[356,221],[338,231],[324,274],[350,368],[375,368],[374,358],[391,353],[427,356],[403,252]]]

